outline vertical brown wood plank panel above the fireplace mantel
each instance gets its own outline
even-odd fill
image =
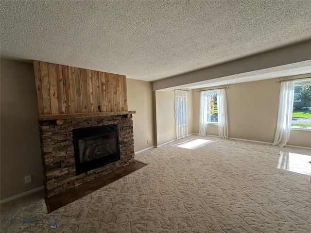
[[[39,115],[127,111],[126,76],[34,61]]]

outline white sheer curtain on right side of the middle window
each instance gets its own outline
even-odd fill
[[[227,98],[225,89],[217,90],[217,104],[219,137],[228,139]]]

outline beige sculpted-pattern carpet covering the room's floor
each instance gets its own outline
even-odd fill
[[[270,145],[216,137],[202,138],[210,142],[194,150],[176,146],[198,138],[190,136],[139,153],[136,159],[148,166],[51,214],[47,214],[42,191],[2,204],[0,230],[5,233],[311,232],[310,175],[289,171],[293,167],[290,158],[299,158],[297,154],[301,154],[311,161],[311,150],[280,151]],[[304,163],[307,162],[296,160],[296,171]],[[311,165],[308,166],[311,172]],[[13,221],[7,216],[13,216]],[[20,216],[16,217],[17,222],[27,217],[32,220],[18,224],[14,216]],[[48,223],[55,223],[54,218],[57,229],[50,230]]]

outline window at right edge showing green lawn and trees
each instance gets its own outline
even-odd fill
[[[311,128],[311,80],[295,82],[292,127]]]

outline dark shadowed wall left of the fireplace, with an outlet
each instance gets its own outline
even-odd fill
[[[1,59],[1,200],[43,185],[32,64]],[[24,176],[32,182],[25,184]]]

